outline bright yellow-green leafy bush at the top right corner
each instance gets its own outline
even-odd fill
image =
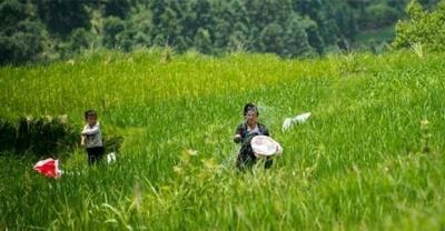
[[[395,48],[406,48],[421,44],[428,51],[445,51],[445,1],[431,12],[422,4],[412,0],[406,8],[408,19],[396,26]]]

